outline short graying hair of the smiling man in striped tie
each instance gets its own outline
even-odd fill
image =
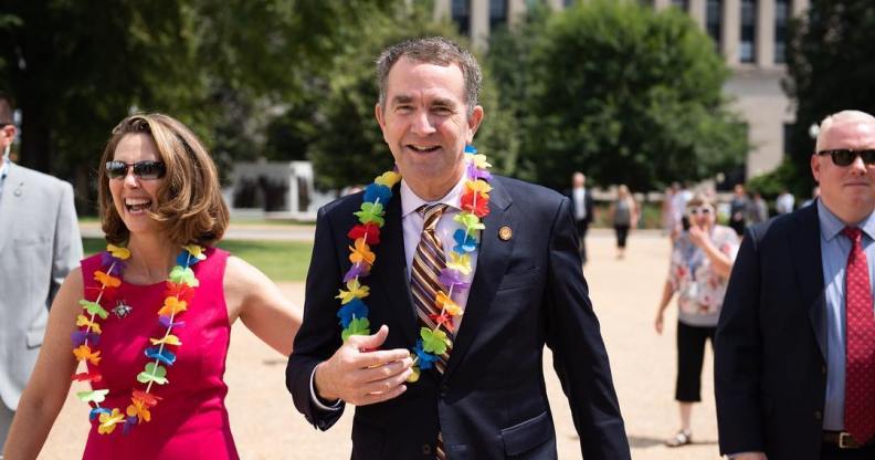
[[[426,36],[410,39],[396,43],[380,53],[377,59],[377,83],[380,86],[380,106],[386,107],[386,93],[388,91],[389,71],[401,58],[413,62],[451,65],[456,64],[462,70],[465,81],[465,105],[468,115],[474,111],[479,97],[483,73],[477,60],[460,44],[443,36]]]

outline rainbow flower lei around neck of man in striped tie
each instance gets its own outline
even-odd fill
[[[479,247],[477,231],[485,228],[481,218],[489,213],[488,194],[492,187],[488,180],[492,179],[492,175],[487,168],[492,165],[486,161],[485,155],[477,154],[474,146],[465,146],[465,154],[467,154],[468,180],[465,181],[465,191],[460,200],[462,212],[453,219],[460,224],[453,233],[456,245],[450,252],[446,268],[439,276],[443,289],[436,293],[435,310],[440,310],[441,313],[432,315],[436,323],[433,330],[428,327],[420,330],[420,338],[410,353],[413,358],[413,374],[408,379],[410,383],[419,380],[421,370],[432,368],[438,357],[445,353],[450,345],[446,333],[453,333],[453,317],[462,314],[462,307],[452,300],[453,292],[467,290],[471,285],[466,281],[471,274],[471,253]],[[344,275],[346,290],[340,289],[340,293],[335,297],[339,299],[341,304],[337,316],[340,318],[340,326],[344,327],[340,334],[344,342],[350,335],[370,334],[368,305],[362,301],[370,294],[370,288],[361,284],[361,279],[370,274],[377,260],[371,248],[380,243],[380,228],[384,223],[386,215],[383,203],[388,203],[392,198],[392,187],[399,180],[401,175],[396,171],[387,171],[378,176],[365,189],[360,210],[354,212],[360,223],[347,233],[354,242],[349,247],[349,261],[352,266]]]

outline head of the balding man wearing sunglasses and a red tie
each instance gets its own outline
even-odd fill
[[[875,119],[840,115],[821,132],[818,151],[875,148]],[[830,155],[815,153],[811,171],[820,185],[823,205],[845,223],[855,224],[875,209],[875,165],[865,165],[857,156],[851,165],[837,166]]]

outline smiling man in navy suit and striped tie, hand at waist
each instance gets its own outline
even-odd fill
[[[467,174],[465,145],[483,119],[481,72],[467,51],[432,38],[387,49],[378,74],[376,116],[403,176],[387,205],[377,261],[366,279],[368,317],[379,331],[344,343],[337,321],[340,304],[334,297],[350,268],[347,231],[357,223],[358,194],[319,210],[304,324],[286,370],[296,407],[325,430],[345,402],[358,406],[354,459],[556,458],[541,363],[546,344],[582,456],[629,459],[571,205],[545,188],[493,177],[473,282],[457,299],[464,314],[451,334],[446,367],[423,369],[418,381],[405,383],[420,332],[410,284],[424,233],[417,210],[447,206],[435,232],[449,252]]]

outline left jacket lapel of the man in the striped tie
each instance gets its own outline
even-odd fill
[[[380,231],[380,245],[377,263],[373,265],[373,275],[380,280],[392,313],[389,316],[398,317],[401,328],[410,342],[417,343],[419,328],[417,315],[413,311],[413,300],[410,294],[410,283],[407,274],[407,259],[404,258],[404,232],[401,227],[401,190],[394,187],[393,198],[386,210],[386,223]]]

